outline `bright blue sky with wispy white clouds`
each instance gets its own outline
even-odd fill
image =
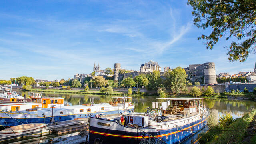
[[[150,59],[165,66],[215,62],[216,74],[252,71],[246,62],[228,62],[230,41],[213,50],[198,41],[186,0],[2,0],[0,1],[0,79],[32,76],[60,80],[101,69],[139,70]]]

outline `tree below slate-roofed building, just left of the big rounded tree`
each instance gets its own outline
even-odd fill
[[[160,87],[162,83],[162,78],[160,78],[160,72],[155,70],[152,73],[147,75],[148,78],[148,89],[157,90],[158,87]]]

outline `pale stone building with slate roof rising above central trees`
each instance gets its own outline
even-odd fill
[[[140,66],[140,72],[153,72],[154,70],[161,71],[161,67],[158,62],[154,62],[152,60],[149,60],[149,62]]]

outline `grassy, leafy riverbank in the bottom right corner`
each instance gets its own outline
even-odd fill
[[[256,144],[255,135],[251,139],[244,140],[248,135],[246,129],[253,121],[256,110],[245,114],[242,118],[237,118],[228,126],[218,124],[212,126],[208,133],[202,134],[200,144]],[[239,130],[239,131],[238,131]]]

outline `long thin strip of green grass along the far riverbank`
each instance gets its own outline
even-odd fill
[[[56,92],[56,93],[70,93],[70,94],[100,94],[104,95],[104,92],[89,90],[87,92],[83,90],[56,90],[56,89],[31,89],[31,92]],[[112,95],[121,95],[122,92],[113,92]]]

